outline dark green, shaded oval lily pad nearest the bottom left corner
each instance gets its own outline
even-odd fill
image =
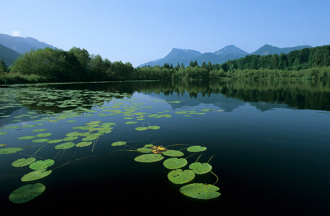
[[[27,184],[13,191],[9,195],[9,200],[14,203],[27,202],[42,194],[45,188],[41,183]]]

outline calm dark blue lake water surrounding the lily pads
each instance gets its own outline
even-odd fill
[[[326,215],[330,210],[330,80],[22,85],[0,89],[0,116],[0,144],[6,145],[0,151],[21,149],[0,154],[3,215],[116,209],[160,215],[214,210],[219,215]],[[131,121],[136,123],[125,124]],[[160,128],[136,130],[148,126]],[[45,130],[33,132],[38,129]],[[26,136],[32,137],[22,139]],[[55,148],[86,138],[91,143],[83,147]],[[126,145],[113,146],[117,141]],[[218,181],[207,172],[174,184],[163,165],[171,157],[141,163],[134,158],[146,153],[116,151],[151,143],[181,150],[179,158],[194,153],[185,149],[189,146],[205,146],[181,169],[189,170],[201,153],[201,163],[214,155],[208,163]],[[47,168],[52,171],[21,181],[34,170],[12,163],[31,156],[53,160]],[[20,204],[9,200],[19,187],[35,183],[45,185],[41,195]],[[221,195],[198,200],[179,191],[192,183],[215,183]]]

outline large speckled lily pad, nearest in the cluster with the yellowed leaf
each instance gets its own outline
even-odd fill
[[[220,188],[210,184],[194,183],[185,185],[179,190],[188,197],[209,200],[220,196],[220,193],[216,192],[219,189]]]

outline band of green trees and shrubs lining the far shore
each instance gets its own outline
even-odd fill
[[[86,49],[31,49],[9,68],[1,60],[0,83],[90,82],[193,79],[330,79],[330,46],[294,50],[288,54],[247,55],[222,64],[191,61],[189,66],[143,66],[111,62]]]

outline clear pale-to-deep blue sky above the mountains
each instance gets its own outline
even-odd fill
[[[76,46],[134,67],[171,49],[248,53],[330,43],[330,1],[0,0],[0,33]]]

